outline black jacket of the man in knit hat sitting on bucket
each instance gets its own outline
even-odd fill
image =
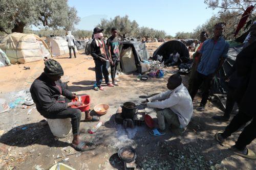
[[[37,111],[42,116],[60,112],[68,107],[60,95],[72,99],[72,93],[64,88],[61,80],[51,81],[44,72],[32,83],[30,93]]]

